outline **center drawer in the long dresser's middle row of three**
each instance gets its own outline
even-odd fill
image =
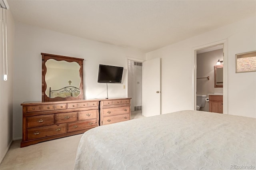
[[[78,112],[57,113],[55,114],[55,124],[78,121],[77,113]]]

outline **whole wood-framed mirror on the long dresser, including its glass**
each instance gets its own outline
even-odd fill
[[[41,55],[42,102],[84,99],[84,59],[47,53]]]

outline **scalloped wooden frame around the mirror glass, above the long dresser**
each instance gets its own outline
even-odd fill
[[[50,101],[70,101],[70,100],[82,100],[84,99],[84,70],[83,70],[83,63],[84,59],[81,58],[74,58],[74,57],[66,57],[62,55],[54,55],[54,54],[46,54],[46,53],[41,53],[42,55],[42,102],[50,102]],[[54,97],[50,98],[45,94],[46,91],[46,82],[45,82],[45,75],[46,75],[46,61],[48,59],[55,59],[56,61],[67,61],[67,62],[77,62],[80,65],[79,73],[80,73],[80,95],[77,97]]]

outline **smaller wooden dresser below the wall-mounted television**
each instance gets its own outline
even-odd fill
[[[100,100],[100,125],[130,120],[131,98],[114,98]]]

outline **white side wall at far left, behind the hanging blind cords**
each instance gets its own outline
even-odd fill
[[[1,10],[2,11],[2,10]],[[4,12],[5,13],[5,12]],[[2,12],[1,12],[2,16]],[[2,18],[2,17],[1,17]],[[2,27],[0,27],[2,32]],[[2,35],[2,34],[1,34]],[[0,37],[2,40],[2,36]],[[12,142],[13,127],[13,51],[14,51],[14,20],[10,10],[7,10],[7,55],[8,78],[4,81],[2,41],[0,41],[0,163]]]

